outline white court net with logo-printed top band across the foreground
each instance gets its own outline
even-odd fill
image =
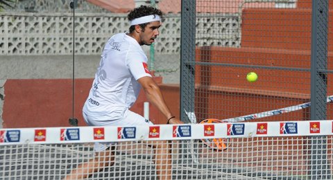
[[[332,125],[318,120],[0,129],[0,179],[311,179],[312,170],[330,179]],[[114,151],[103,153],[114,155],[94,153],[94,142],[108,141],[116,142]]]

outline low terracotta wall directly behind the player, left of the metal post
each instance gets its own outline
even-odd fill
[[[161,78],[155,78],[162,82]],[[74,93],[74,118],[85,126],[82,107],[92,79],[76,79]],[[16,127],[66,127],[73,112],[72,80],[7,80],[4,86],[3,128]],[[162,93],[175,116],[179,116],[179,86],[160,84]],[[140,93],[132,110],[144,114],[146,97]],[[150,118],[155,124],[165,118],[150,105]]]

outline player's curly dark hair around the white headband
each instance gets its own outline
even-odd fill
[[[135,8],[133,10],[130,11],[130,13],[128,13],[127,15],[127,19],[128,21],[132,21],[135,18],[139,18],[139,17],[144,17],[144,16],[148,16],[148,15],[159,15],[162,18],[162,11],[157,9],[157,8],[153,8],[151,6],[140,6],[138,8]],[[139,24],[139,26],[142,28],[142,30],[144,30],[144,28],[147,26],[148,23],[145,24]],[[130,33],[133,32],[134,30],[134,26],[130,26]]]

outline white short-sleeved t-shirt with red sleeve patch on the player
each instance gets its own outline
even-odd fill
[[[139,43],[125,33],[112,36],[105,44],[92,89],[83,107],[85,114],[117,120],[130,108],[141,89],[137,82],[151,77],[148,59]]]

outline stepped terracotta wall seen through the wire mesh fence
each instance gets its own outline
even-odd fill
[[[327,68],[332,70],[333,1],[329,3]],[[244,8],[241,23],[241,47],[196,48],[196,62],[230,65],[196,65],[199,119],[244,116],[310,100],[311,73],[286,69],[311,68],[311,0],[299,0],[297,8]],[[259,66],[272,69],[256,68]],[[257,82],[246,81],[250,71],[259,75]],[[332,78],[332,74],[327,75],[327,80]],[[332,91],[333,87],[328,86],[327,92]],[[332,107],[332,103],[327,105],[328,109]],[[309,120],[309,108],[259,120],[296,118]],[[332,111],[328,111],[327,118],[333,118]]]

